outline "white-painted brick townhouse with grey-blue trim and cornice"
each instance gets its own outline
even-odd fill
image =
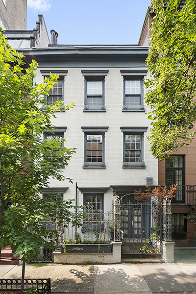
[[[59,74],[49,104],[58,99],[65,105],[75,102],[73,109],[57,112],[52,119],[55,135],[66,138],[66,147],[77,148],[63,168],[73,184],[51,179],[45,194],[58,192],[64,199],[74,199],[77,183],[77,204],[90,202],[106,212],[112,210],[115,195],[158,184],[157,160],[147,141],[149,109],[144,103],[148,48],[49,45],[21,51],[26,62],[39,63],[37,83],[49,73]]]

